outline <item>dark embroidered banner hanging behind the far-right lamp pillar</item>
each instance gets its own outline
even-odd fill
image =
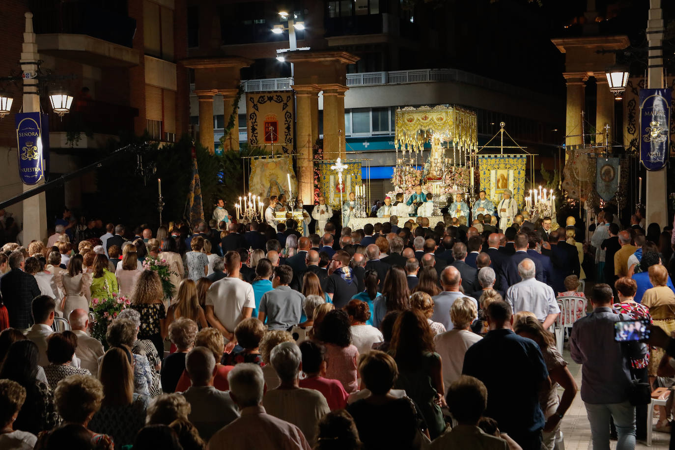
[[[626,92],[624,92],[624,147],[626,147],[626,152],[629,153],[638,152],[642,136],[645,134],[645,130],[641,128],[640,123],[640,91],[645,86],[644,78],[629,78],[626,84]],[[672,91],[675,88],[675,77],[666,77],[666,86],[670,86]],[[673,108],[675,108],[675,100],[671,99],[670,110],[672,111]],[[649,123],[645,125],[645,128],[647,126],[649,126]],[[668,150],[670,156],[675,156],[675,117],[672,114],[670,115],[668,130],[670,132]]]

